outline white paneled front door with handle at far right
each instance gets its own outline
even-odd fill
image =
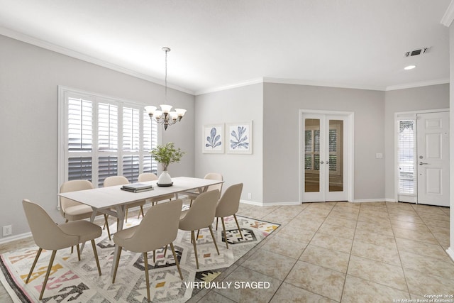
[[[418,203],[449,206],[449,113],[417,115]]]

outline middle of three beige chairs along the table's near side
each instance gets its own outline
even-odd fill
[[[197,269],[199,269],[199,258],[197,257],[196,237],[194,231],[201,228],[209,228],[211,237],[213,238],[214,246],[219,254],[216,238],[214,237],[213,228],[211,224],[214,221],[214,214],[216,212],[216,203],[218,202],[219,191],[218,189],[209,192],[202,192],[199,194],[191,208],[182,211],[181,219],[179,220],[179,229],[182,231],[191,231],[191,242],[194,246],[194,255],[196,258]]]

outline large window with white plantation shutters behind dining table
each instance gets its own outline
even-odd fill
[[[59,87],[59,182],[123,175],[137,182],[141,172],[157,172],[150,150],[157,124],[143,106],[130,101]]]

